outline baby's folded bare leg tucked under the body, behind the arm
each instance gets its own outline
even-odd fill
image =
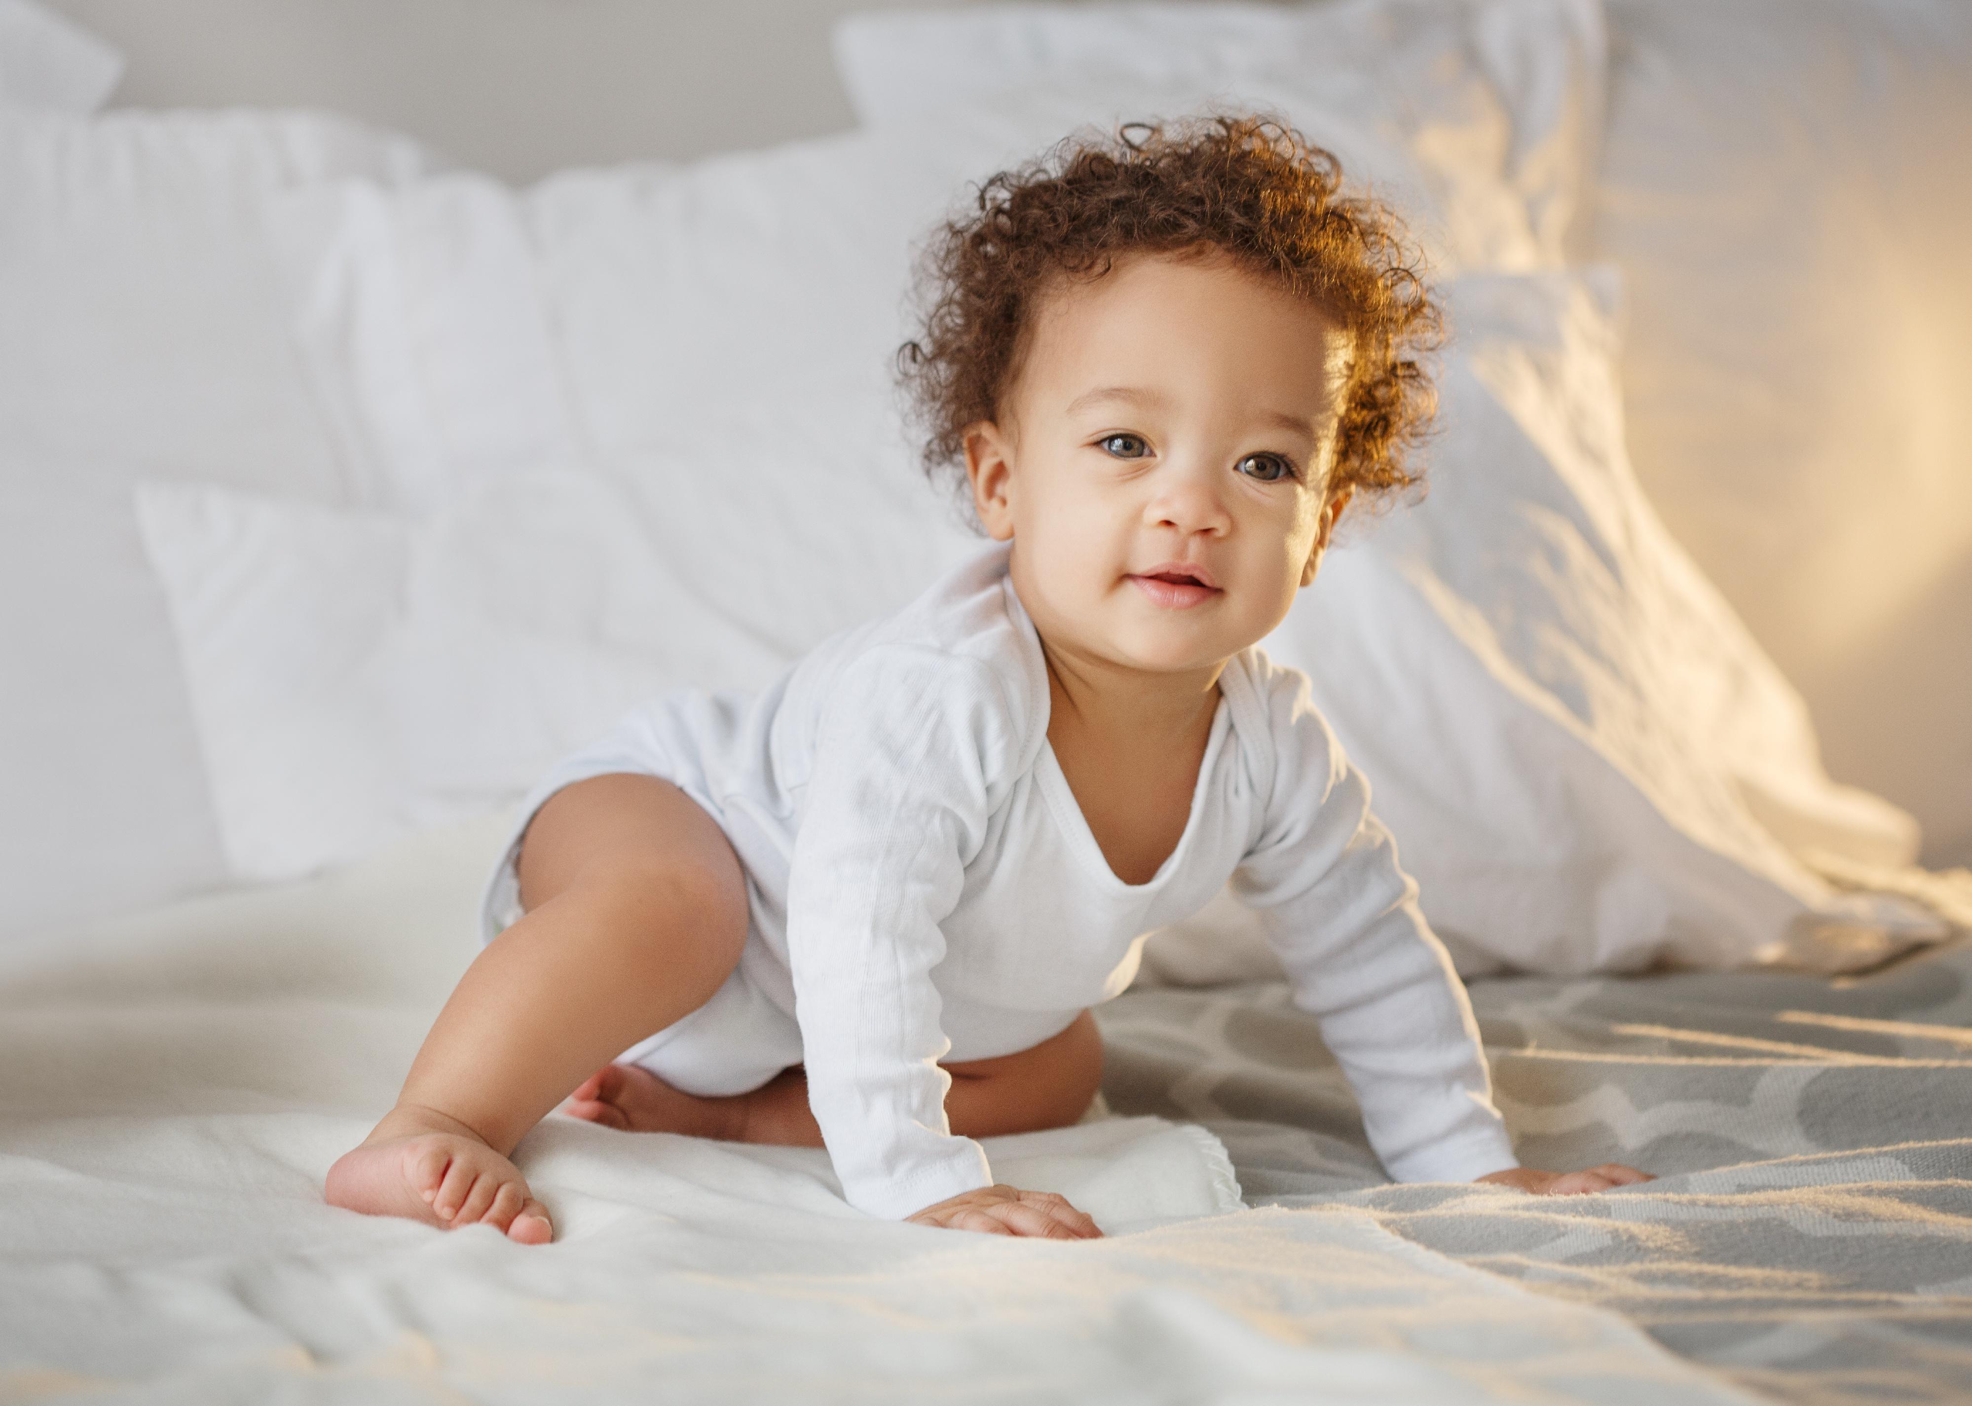
[[[952,1077],[945,1116],[956,1134],[996,1138],[1065,1128],[1089,1110],[1102,1087],[1102,1035],[1094,1016],[1083,1012],[1065,1031],[1031,1049],[964,1059],[943,1069]],[[627,1132],[822,1146],[801,1069],[787,1069],[753,1092],[700,1098],[672,1089],[649,1069],[603,1065],[576,1089],[564,1112]]]

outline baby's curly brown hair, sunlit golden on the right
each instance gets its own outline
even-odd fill
[[[1353,339],[1329,485],[1378,501],[1422,483],[1412,452],[1436,412],[1422,357],[1442,341],[1440,306],[1398,217],[1345,197],[1341,164],[1292,126],[1223,114],[1071,136],[990,177],[976,205],[933,233],[923,331],[897,351],[933,477],[962,473],[966,430],[998,418],[1055,280],[1100,278],[1132,252],[1219,250]]]

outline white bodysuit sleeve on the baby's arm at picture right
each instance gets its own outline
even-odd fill
[[[1518,1165],[1465,986],[1418,909],[1390,832],[1371,814],[1369,783],[1305,680],[1266,672],[1262,665],[1258,682],[1276,765],[1234,893],[1260,909],[1294,1002],[1321,1019],[1394,1179],[1471,1181]]]

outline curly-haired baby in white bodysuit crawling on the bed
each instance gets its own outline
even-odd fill
[[[976,1140],[1081,1118],[1089,1008],[1229,879],[1392,1177],[1643,1181],[1516,1165],[1369,787],[1254,649],[1343,509],[1414,483],[1438,310],[1394,219],[1294,132],[1207,118],[996,176],[931,272],[901,369],[994,546],[759,698],[659,698],[550,771],[327,1199],[544,1242],[509,1154],[574,1090],[824,1146],[876,1217],[1094,1236]]]

